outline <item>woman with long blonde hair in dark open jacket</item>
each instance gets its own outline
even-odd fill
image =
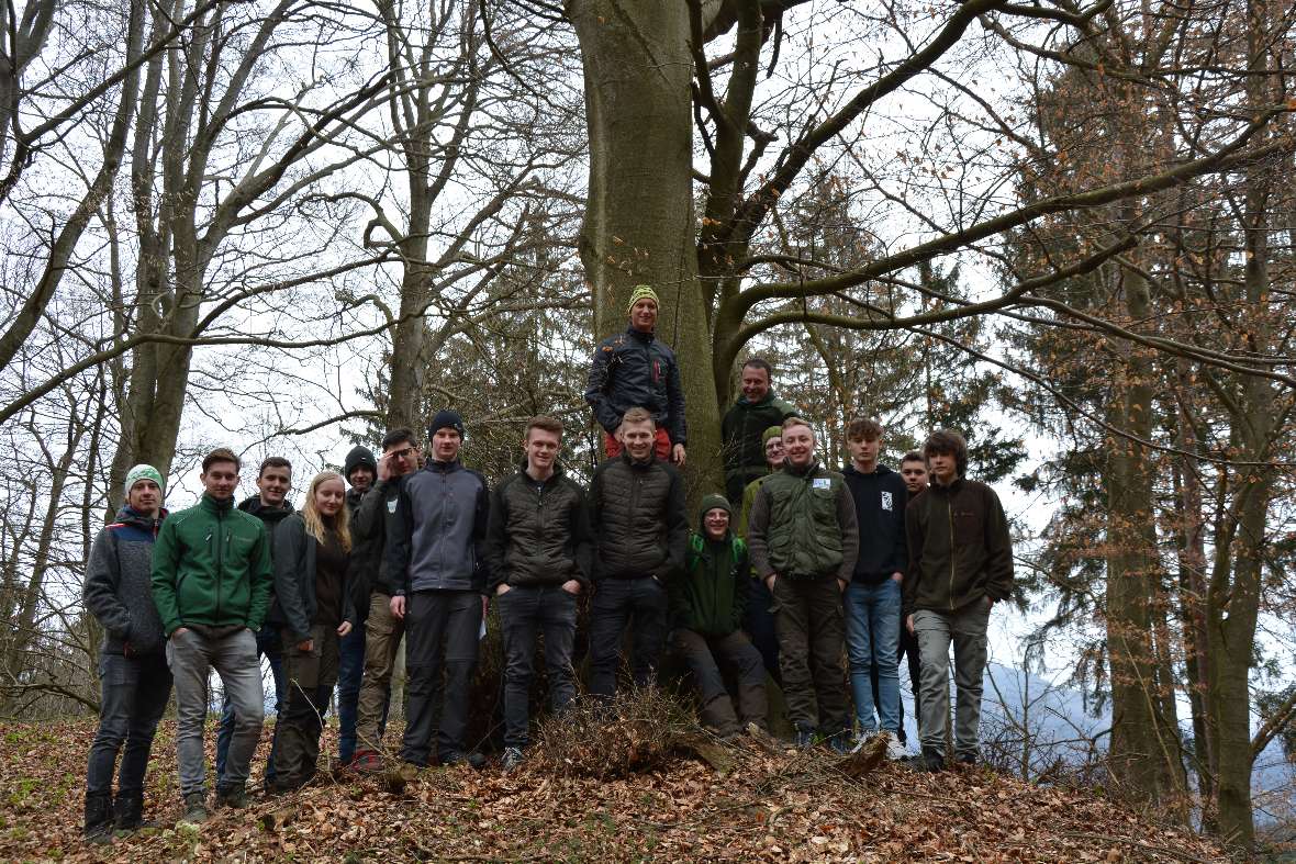
[[[284,640],[288,710],[280,715],[273,791],[298,789],[315,776],[320,731],[337,683],[338,640],[355,627],[346,579],[351,552],[346,484],[323,472],[306,505],[275,531],[275,609]]]

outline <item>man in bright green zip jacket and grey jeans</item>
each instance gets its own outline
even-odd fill
[[[202,499],[162,523],[153,545],[153,601],[175,676],[175,750],[184,820],[205,821],[207,676],[220,676],[235,706],[235,733],[216,804],[246,807],[248,766],[260,740],[264,694],[257,631],[270,606],[273,571],[260,519],[233,506],[238,457],[220,447],[202,460]]]

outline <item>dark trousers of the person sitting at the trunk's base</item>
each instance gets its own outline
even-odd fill
[[[727,636],[704,636],[679,628],[675,631],[674,644],[697,685],[702,725],[721,737],[737,734],[748,723],[762,729],[766,727],[765,667],[759,652],[743,631]],[[724,687],[721,665],[737,675],[737,712],[734,711]]]

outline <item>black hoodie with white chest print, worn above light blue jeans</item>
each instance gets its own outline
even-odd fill
[[[854,465],[848,465],[841,475],[846,478],[859,525],[855,582],[876,585],[890,579],[892,574],[903,574],[908,567],[905,539],[908,490],[905,488],[905,478],[885,465],[877,465],[872,474],[862,474]]]

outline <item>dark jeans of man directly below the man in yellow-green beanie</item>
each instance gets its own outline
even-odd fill
[[[653,576],[603,579],[590,611],[590,693],[612,698],[626,627],[634,627],[630,674],[644,687],[657,674],[666,644],[666,587]]]

